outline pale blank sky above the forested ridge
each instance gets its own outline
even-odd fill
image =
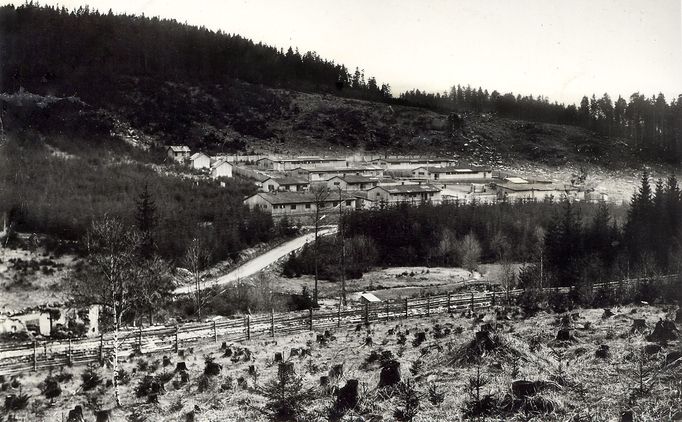
[[[17,4],[21,4],[17,2]],[[394,95],[462,84],[579,103],[682,94],[682,0],[61,0],[316,51]]]

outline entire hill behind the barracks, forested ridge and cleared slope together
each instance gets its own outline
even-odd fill
[[[8,131],[135,133],[209,152],[682,162],[679,99],[586,96],[576,107],[468,86],[394,97],[389,85],[314,52],[87,7],[1,7],[0,92]]]

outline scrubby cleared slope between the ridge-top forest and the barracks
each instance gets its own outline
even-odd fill
[[[187,85],[122,77],[103,91],[94,102],[4,95],[5,129],[112,132],[147,147],[182,143],[211,153],[441,154],[481,164],[599,162],[614,168],[637,161],[624,141],[492,113],[445,114],[237,80]]]

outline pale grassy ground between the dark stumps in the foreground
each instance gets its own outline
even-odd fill
[[[667,311],[667,312],[666,312]],[[344,375],[338,381],[343,386],[349,379],[359,381],[360,402],[344,420],[360,420],[351,415],[362,415],[362,420],[394,420],[396,408],[402,407],[396,395],[377,389],[380,367],[368,363],[372,352],[390,351],[400,362],[403,381],[409,379],[420,397],[414,421],[456,421],[465,416],[471,407],[470,378],[479,371],[487,383],[480,389],[480,397],[490,395],[485,420],[510,421],[607,421],[618,420],[621,412],[632,410],[635,420],[673,420],[682,411],[682,367],[664,366],[666,353],[679,350],[679,342],[670,342],[656,354],[642,353],[646,333],[632,333],[635,318],[646,320],[650,332],[656,321],[670,315],[671,309],[655,306],[626,306],[613,308],[613,316],[604,318],[602,309],[578,309],[572,315],[540,312],[523,319],[517,312],[509,318],[495,321],[493,310],[485,315],[439,315],[432,318],[396,320],[372,324],[369,328],[343,328],[332,330],[335,337],[327,345],[315,341],[316,333],[279,337],[274,340],[253,340],[230,345],[251,351],[251,360],[233,362],[223,357],[220,344],[195,346],[185,350],[185,356],[172,355],[173,364],[160,365],[161,356],[141,356],[128,359],[123,367],[131,376],[129,384],[121,387],[123,407],[113,411],[114,420],[174,421],[257,421],[267,420],[259,409],[266,399],[260,389],[277,373],[273,363],[274,353],[282,352],[285,359],[294,363],[294,369],[303,378],[303,385],[315,391],[315,398],[305,406],[310,420],[328,420],[327,411],[334,396],[319,386],[319,379],[327,375],[334,364],[342,363]],[[516,315],[515,315],[516,314]],[[566,316],[566,321],[561,321]],[[496,347],[481,352],[481,342],[474,342],[481,324],[497,324],[492,335]],[[440,336],[436,335],[439,325]],[[562,324],[570,329],[568,341],[557,341]],[[425,332],[426,340],[414,345],[416,332]],[[400,335],[406,335],[405,344],[398,344]],[[373,345],[366,344],[371,337]],[[440,337],[440,338],[436,338]],[[595,357],[601,345],[609,346],[608,356]],[[289,357],[292,348],[304,348],[305,357]],[[222,365],[219,375],[202,380],[204,359],[215,358]],[[188,367],[189,382],[178,385],[179,375],[165,384],[165,393],[158,404],[146,404],[137,398],[134,388],[145,375],[159,375],[172,371],[175,363],[184,361]],[[147,366],[145,368],[145,365]],[[253,365],[257,376],[249,375]],[[81,390],[84,368],[65,368],[73,380],[62,383],[63,392],[54,405],[40,396],[38,383],[47,374],[25,374],[19,378],[22,391],[30,394],[26,410],[17,416],[29,420],[62,420],[69,409],[82,405],[86,420],[92,419],[92,408],[111,408],[112,389],[103,384],[91,391]],[[107,369],[97,368],[103,378]],[[640,376],[641,375],[641,376]],[[243,377],[246,386],[237,386]],[[542,381],[537,395],[526,400],[514,400],[511,383],[514,380]],[[9,379],[7,381],[10,381]],[[175,384],[175,385],[174,385]],[[229,384],[229,389],[227,388]],[[224,386],[226,390],[223,390]],[[640,391],[641,388],[641,391]],[[12,391],[8,388],[6,391]],[[429,391],[435,395],[429,395]],[[442,393],[440,403],[430,397]],[[200,411],[194,412],[194,409]],[[534,412],[532,409],[545,408]],[[382,419],[383,418],[383,419]],[[479,419],[482,420],[482,419]]]

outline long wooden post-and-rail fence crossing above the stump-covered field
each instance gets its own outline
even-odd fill
[[[677,275],[658,277],[656,280],[672,280]],[[593,289],[629,289],[648,279],[628,279],[610,283],[598,283]],[[543,289],[547,293],[566,294],[571,287]],[[336,311],[293,311],[260,315],[246,315],[224,321],[188,323],[175,326],[128,329],[119,332],[119,356],[132,353],[178,352],[201,340],[242,341],[254,337],[275,337],[301,331],[322,330],[387,321],[417,318],[434,314],[484,309],[502,303],[507,298],[520,295],[521,289],[510,292],[485,292],[465,294],[441,294],[376,304],[352,306]],[[0,345],[0,375],[37,371],[103,362],[114,350],[112,333],[99,338],[67,339],[22,342]]]

